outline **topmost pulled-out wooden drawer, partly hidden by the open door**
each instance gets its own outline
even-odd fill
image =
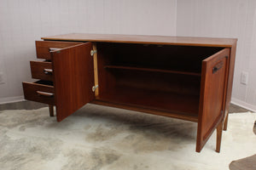
[[[36,50],[38,59],[51,59],[49,48],[68,48],[81,42],[54,42],[54,41],[36,41]]]

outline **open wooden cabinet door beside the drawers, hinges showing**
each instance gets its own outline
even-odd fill
[[[86,42],[51,53],[58,122],[95,98],[91,49]]]

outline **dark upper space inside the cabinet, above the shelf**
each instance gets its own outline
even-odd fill
[[[108,65],[201,72],[201,61],[223,48],[130,43],[98,43],[111,53]]]

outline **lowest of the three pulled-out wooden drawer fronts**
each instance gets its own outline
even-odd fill
[[[25,99],[55,105],[54,87],[37,82],[22,82]]]

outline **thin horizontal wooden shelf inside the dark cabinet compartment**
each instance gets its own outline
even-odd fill
[[[119,66],[119,65],[105,65],[105,69],[123,69],[123,70],[131,70],[131,71],[152,71],[152,72],[166,72],[173,74],[183,74],[190,75],[195,77],[201,77],[201,73],[199,72],[190,72],[190,71],[172,71],[172,70],[162,70],[162,69],[152,69],[152,68],[142,68],[142,67],[131,67],[131,66]]]

